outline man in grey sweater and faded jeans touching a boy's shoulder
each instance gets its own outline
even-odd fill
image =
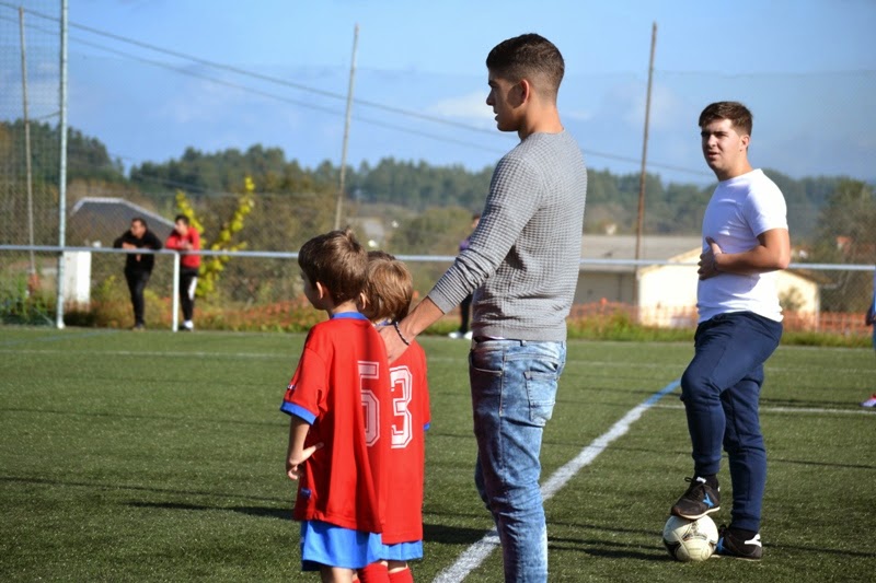
[[[486,104],[498,129],[516,131],[520,143],[496,166],[469,248],[407,317],[381,335],[393,361],[474,291],[475,482],[496,522],[506,581],[546,581],[539,456],[566,359],[587,170],[556,107],[564,72],[557,48],[526,34],[494,47],[486,66]]]

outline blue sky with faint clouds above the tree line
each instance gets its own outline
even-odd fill
[[[4,47],[18,43],[10,4],[0,2]],[[696,117],[738,100],[754,113],[754,165],[876,177],[873,0],[69,0],[69,123],[126,165],[255,143],[304,166],[338,164],[358,24],[349,164],[494,164],[516,137],[495,130],[484,104],[484,58],[538,32],[566,59],[561,115],[590,167],[635,173],[656,23],[650,172],[708,183]],[[14,91],[0,115],[15,117],[20,70],[2,73]]]

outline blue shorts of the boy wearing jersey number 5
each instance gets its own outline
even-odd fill
[[[322,521],[301,523],[301,570],[321,567],[361,569],[381,559],[380,535],[342,528]]]

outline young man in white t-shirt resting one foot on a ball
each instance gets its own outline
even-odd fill
[[[736,102],[700,114],[703,155],[719,182],[703,217],[695,354],[681,377],[693,477],[671,513],[694,520],[721,509],[723,445],[733,511],[716,552],[759,560],[766,451],[758,403],[763,363],[782,337],[775,280],[791,260],[791,241],[781,190],[748,162],[751,123],[751,112]]]

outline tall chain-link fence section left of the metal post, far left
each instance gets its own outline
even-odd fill
[[[0,9],[0,243],[57,245],[61,4],[26,8]],[[7,260],[16,275],[4,269],[3,287],[24,293],[57,268],[36,253]]]

